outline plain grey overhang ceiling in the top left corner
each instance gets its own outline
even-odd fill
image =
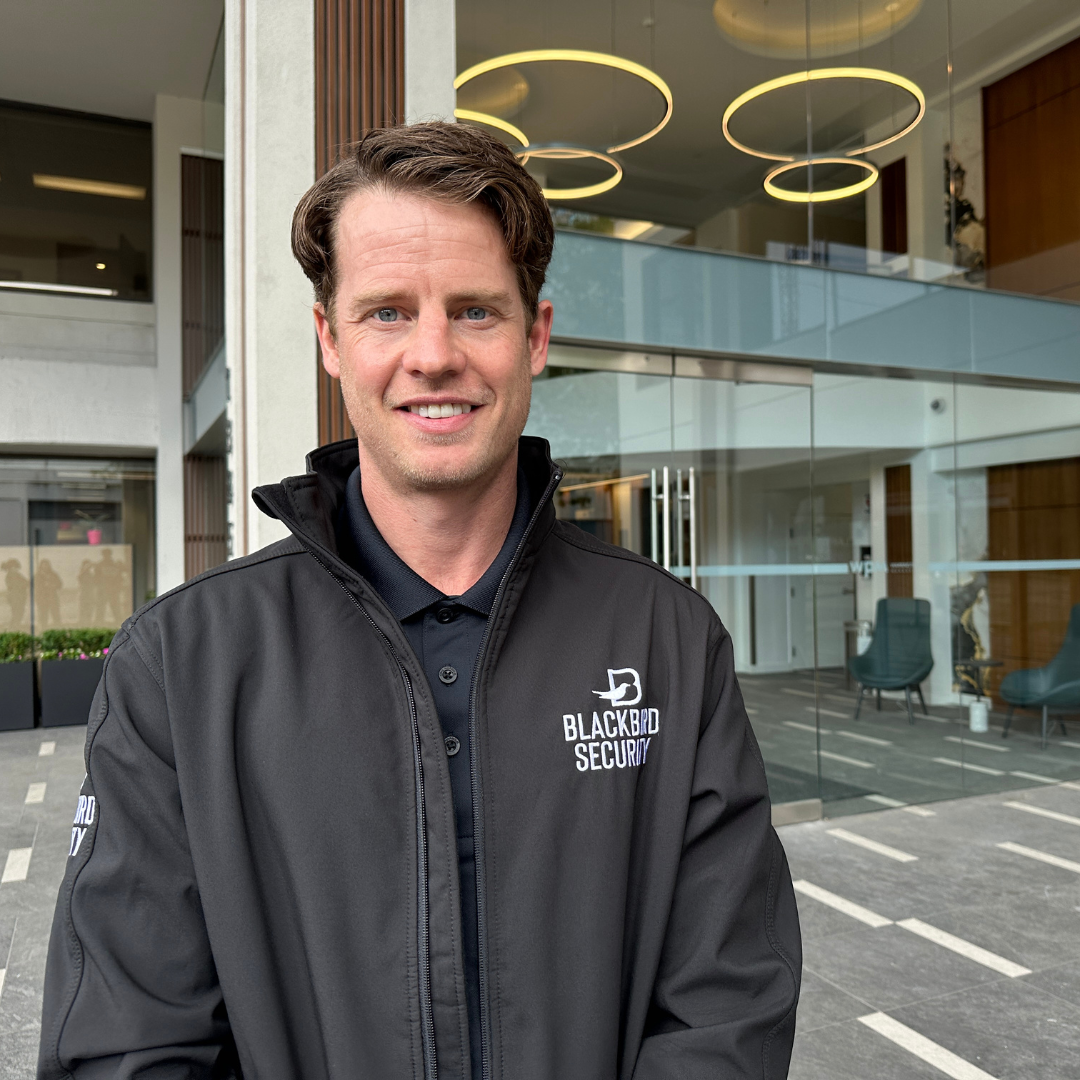
[[[224,0],[2,0],[0,98],[151,120],[201,98]]]

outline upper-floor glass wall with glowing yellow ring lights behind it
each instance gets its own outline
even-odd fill
[[[1080,299],[1074,5],[457,12],[459,118],[521,153],[562,228]]]

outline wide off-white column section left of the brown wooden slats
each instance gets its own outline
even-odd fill
[[[318,442],[311,286],[293,211],[315,178],[314,5],[226,0],[226,355],[232,554],[286,535],[251,490],[305,471]]]

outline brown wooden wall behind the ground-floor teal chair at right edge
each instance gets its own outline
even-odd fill
[[[986,470],[990,559],[1080,558],[1080,458]],[[1040,667],[1062,647],[1080,604],[1078,570],[987,575],[990,654],[1003,661],[987,686],[1021,667]]]

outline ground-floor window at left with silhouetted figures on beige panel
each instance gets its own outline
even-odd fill
[[[0,458],[0,633],[116,630],[154,590],[152,461]]]

